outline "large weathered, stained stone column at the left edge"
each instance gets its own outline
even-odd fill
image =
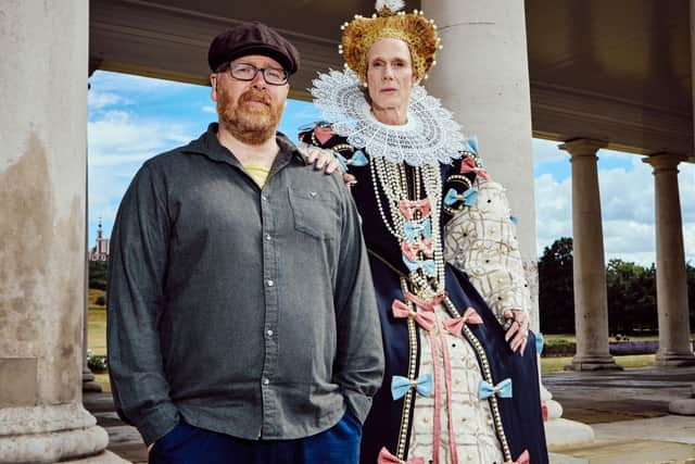
[[[110,460],[81,404],[88,8],[0,3],[2,463]]]

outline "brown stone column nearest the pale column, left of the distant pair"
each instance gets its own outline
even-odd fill
[[[619,369],[608,352],[608,299],[596,152],[604,142],[577,139],[560,145],[572,163],[576,371]]]

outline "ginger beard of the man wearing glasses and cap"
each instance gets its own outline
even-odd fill
[[[257,101],[265,104],[255,103]],[[224,90],[217,95],[219,124],[248,145],[262,145],[274,137],[283,110],[285,101],[274,103],[269,95],[253,88],[236,101]]]

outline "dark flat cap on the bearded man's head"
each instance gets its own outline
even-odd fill
[[[207,63],[215,72],[220,65],[249,54],[270,57],[290,74],[300,67],[300,53],[285,37],[263,23],[243,23],[215,37]]]

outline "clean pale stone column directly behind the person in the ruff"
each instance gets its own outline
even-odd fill
[[[531,91],[523,2],[422,0],[421,7],[438,25],[443,45],[437,55],[441,65],[434,66],[424,84],[454,112],[466,135],[478,136],[488,171],[507,188],[519,218],[519,246],[532,290],[532,328],[538,331]],[[543,385],[541,398],[551,417],[546,423],[549,444],[593,439],[590,427],[560,418],[561,406]]]

